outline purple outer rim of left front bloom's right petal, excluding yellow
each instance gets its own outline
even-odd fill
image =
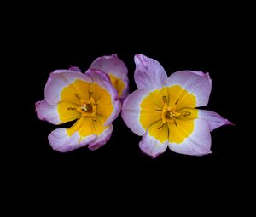
[[[93,82],[97,83],[103,89],[106,89],[108,93],[111,95],[111,103],[113,104],[113,112],[108,117],[106,123],[104,124],[107,126],[109,123],[112,123],[113,120],[118,117],[119,112],[121,111],[121,102],[119,100],[119,95],[116,89],[113,88],[113,85],[110,82],[109,76],[107,73],[100,71],[100,70],[93,70],[89,69],[86,71],[86,75],[91,77]],[[101,105],[104,106],[104,105]]]

